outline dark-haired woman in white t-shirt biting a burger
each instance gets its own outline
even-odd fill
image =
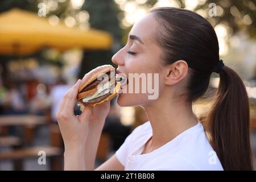
[[[125,47],[112,58],[120,73],[158,73],[159,97],[121,93],[120,106],[142,106],[149,121],[137,127],[97,170],[250,170],[249,104],[245,86],[219,59],[214,29],[184,9],[153,9],[134,24]],[[204,121],[192,102],[220,74],[214,103]],[[80,81],[65,94],[57,114],[65,143],[65,169],[94,169],[109,102],[73,114]],[[129,87],[130,85],[127,85]],[[217,154],[217,155],[216,155]]]

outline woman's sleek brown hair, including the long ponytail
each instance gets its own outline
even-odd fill
[[[152,9],[160,30],[156,41],[163,47],[164,64],[184,60],[190,80],[183,95],[196,101],[208,90],[210,75],[220,61],[218,40],[210,23],[199,14],[174,7]],[[226,65],[212,108],[204,118],[209,123],[210,143],[225,170],[251,170],[250,114],[245,85]]]

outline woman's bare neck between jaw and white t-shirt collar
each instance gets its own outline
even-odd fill
[[[152,126],[151,148],[163,146],[198,123],[188,102],[172,102],[162,97],[144,109]]]

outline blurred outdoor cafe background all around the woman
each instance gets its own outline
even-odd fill
[[[61,170],[55,114],[65,92],[91,69],[112,64],[135,20],[152,7],[189,9],[216,30],[221,59],[245,82],[256,157],[256,3],[250,0],[3,0],[0,2],[0,170]],[[114,65],[115,66],[115,65]],[[193,104],[200,117],[218,86]],[[75,108],[76,114],[79,109]],[[147,116],[115,99],[97,152],[100,165]],[[46,155],[46,159],[44,156]],[[255,160],[254,160],[255,165]]]

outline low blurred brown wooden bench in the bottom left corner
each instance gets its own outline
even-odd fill
[[[39,158],[39,151],[46,152],[46,159],[49,159],[51,170],[63,169],[63,150],[52,146],[39,146],[29,148],[18,148],[11,151],[0,152],[0,161],[13,160],[15,170],[23,170],[23,160],[30,158]]]

